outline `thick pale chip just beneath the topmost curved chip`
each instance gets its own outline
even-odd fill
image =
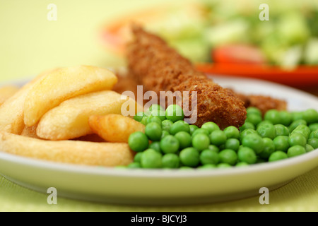
[[[127,101],[125,98],[112,90],[105,90],[66,100],[42,117],[37,136],[61,141],[93,133],[88,118],[94,114],[121,114],[122,105]]]

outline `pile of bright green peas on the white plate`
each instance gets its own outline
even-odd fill
[[[184,121],[179,105],[152,105],[134,117],[145,132],[129,136],[136,152],[128,168],[210,169],[241,167],[295,157],[318,148],[318,113],[271,109],[262,116],[247,108],[245,124],[221,130],[214,122],[198,126]]]

